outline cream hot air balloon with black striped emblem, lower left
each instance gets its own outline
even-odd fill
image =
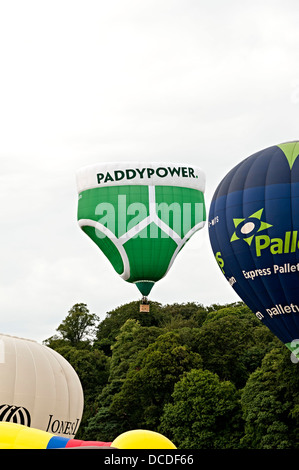
[[[72,438],[83,413],[72,366],[36,341],[0,334],[0,421]]]

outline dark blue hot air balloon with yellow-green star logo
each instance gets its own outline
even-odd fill
[[[299,343],[299,142],[261,150],[221,181],[209,212],[219,267],[291,350]]]

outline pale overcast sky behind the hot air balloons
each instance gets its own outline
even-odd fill
[[[298,139],[298,24],[295,0],[0,0],[2,333],[140,298],[77,225],[81,166],[201,166],[208,209],[239,161]],[[150,299],[239,300],[207,225]]]

